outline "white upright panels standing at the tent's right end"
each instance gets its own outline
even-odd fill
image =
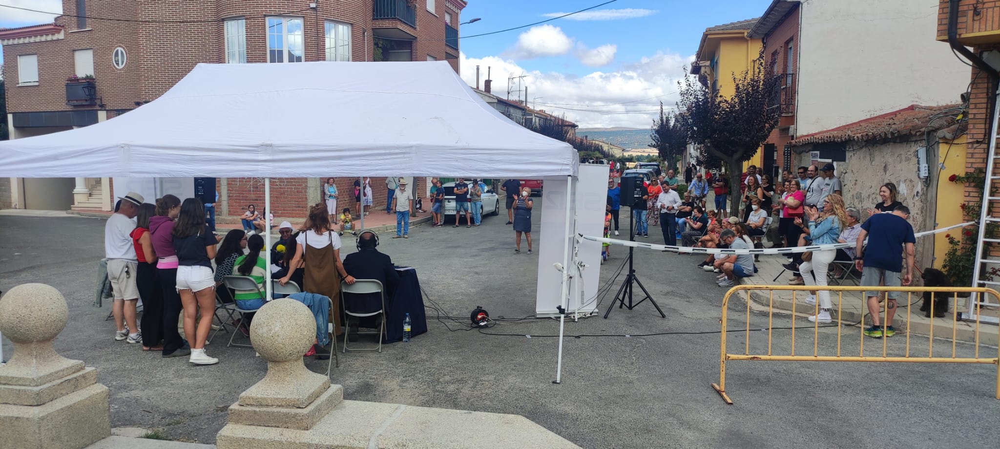
[[[604,230],[604,206],[608,196],[608,166],[581,164],[579,176],[575,180],[572,204],[574,205],[576,224],[572,235],[601,235]],[[541,227],[550,232],[545,238],[539,238],[538,248],[538,286],[535,299],[535,314],[539,317],[558,316],[558,305],[561,304],[562,273],[554,263],[562,263],[563,251],[566,245],[573,245],[573,236],[562,237],[555,229],[566,225],[566,183],[554,180],[545,183],[545,201],[541,202]],[[588,233],[594,232],[594,233]],[[536,237],[538,235],[535,235]],[[573,265],[571,256],[568,313],[592,312],[596,310],[597,301],[594,294],[600,284],[601,274],[601,243],[593,240],[583,240],[571,255],[576,260],[585,263],[586,267]]]

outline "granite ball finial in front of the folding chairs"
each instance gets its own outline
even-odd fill
[[[254,314],[250,340],[265,360],[302,358],[316,339],[316,318],[309,307],[290,298],[268,302]]]

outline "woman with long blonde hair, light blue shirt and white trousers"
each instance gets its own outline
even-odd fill
[[[823,212],[815,207],[806,207],[805,216],[809,219],[809,235],[812,244],[833,244],[840,237],[840,229],[847,225],[847,211],[844,199],[837,194],[830,194],[823,200]],[[837,256],[836,249],[812,251],[812,257],[799,265],[802,280],[806,285],[826,286],[826,271]],[[830,290],[821,289],[819,293],[810,294],[806,302],[815,305],[819,296],[819,313],[810,316],[810,321],[831,322]]]

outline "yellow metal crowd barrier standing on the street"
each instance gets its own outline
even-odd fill
[[[750,295],[751,295],[751,292],[753,290],[767,290],[767,292],[768,292],[768,312],[767,312],[767,329],[766,329],[767,330],[767,353],[766,354],[751,354],[750,353],[750,331],[751,331],[751,326],[750,326],[750,320],[751,320],[750,319],[751,318],[750,302],[751,302],[751,298],[750,298]],[[784,290],[784,291],[791,290],[792,291],[792,309],[791,309],[791,313],[792,313],[793,316],[796,313],[796,309],[795,309],[795,306],[796,306],[796,303],[795,303],[796,302],[795,292],[796,291],[803,291],[803,290],[830,290],[830,295],[831,295],[830,299],[831,299],[831,302],[834,300],[834,298],[832,297],[833,294],[837,293],[838,297],[837,297],[836,303],[834,304],[834,305],[836,305],[836,309],[837,309],[837,318],[832,323],[830,323],[830,324],[820,325],[819,321],[815,321],[815,322],[811,323],[810,325],[805,326],[805,328],[808,328],[808,327],[812,327],[813,328],[813,344],[812,344],[813,351],[812,351],[812,354],[809,354],[809,355],[796,355],[795,354],[795,319],[794,318],[792,319],[792,324],[791,324],[792,335],[791,335],[791,348],[790,348],[791,350],[789,351],[789,354],[788,355],[775,355],[775,354],[772,353],[772,331],[774,330],[774,325],[773,325],[773,322],[774,322],[774,292],[775,291],[782,291],[782,290]],[[744,348],[743,348],[743,353],[742,354],[739,354],[739,353],[729,353],[729,352],[726,351],[726,336],[727,336],[727,332],[728,332],[728,329],[726,327],[726,325],[727,325],[726,321],[727,321],[728,314],[729,314],[728,313],[729,312],[729,298],[732,297],[734,294],[738,293],[739,291],[745,291],[746,292],[746,303],[747,303],[747,307],[746,307],[746,313],[747,313],[747,316],[746,316],[747,317],[747,320],[746,320],[747,321],[746,330],[740,330],[742,332],[745,332],[745,344],[744,344]],[[859,353],[858,353],[858,355],[841,355],[841,337],[842,337],[842,334],[843,334],[843,331],[844,331],[844,325],[843,325],[844,323],[843,323],[843,321],[841,319],[841,315],[842,315],[841,312],[843,311],[843,306],[844,306],[844,292],[845,291],[860,291],[861,292],[861,295],[862,295],[861,300],[862,300],[862,307],[863,307],[862,310],[865,309],[866,303],[867,303],[867,297],[864,297],[864,291],[880,291],[881,294],[883,295],[883,297],[882,297],[882,299],[883,299],[882,303],[883,304],[886,303],[885,300],[888,298],[888,293],[887,293],[888,291],[899,291],[899,292],[905,292],[907,294],[907,296],[906,296],[907,297],[907,301],[906,301],[906,304],[907,304],[906,305],[906,346],[905,346],[905,352],[904,352],[903,356],[890,356],[890,355],[888,355],[888,347],[889,347],[888,337],[882,337],[882,341],[881,341],[882,342],[882,355],[881,356],[864,355],[864,351],[865,351],[865,335],[864,335],[865,323],[864,323],[864,319],[862,319],[861,322],[859,323],[861,330],[858,332],[858,335],[860,335],[861,340],[860,340],[860,343],[859,343]],[[914,303],[914,301],[913,301],[913,296],[914,296],[913,293],[915,293],[915,292],[916,293],[923,293],[924,291],[930,291],[930,292],[932,292],[932,296],[931,296],[931,299],[932,299],[931,300],[931,311],[930,311],[930,335],[928,335],[928,337],[927,337],[928,341],[929,341],[928,354],[927,354],[926,357],[911,356],[910,355],[910,318],[911,318],[910,307]],[[993,295],[994,298],[1000,300],[1000,293],[998,293],[996,290],[994,290],[992,288],[983,288],[983,287],[925,287],[925,286],[890,287],[890,286],[871,286],[871,285],[867,285],[867,286],[866,285],[828,285],[828,286],[823,287],[823,286],[816,286],[816,285],[812,285],[812,286],[809,286],[809,285],[736,285],[736,286],[730,288],[729,291],[726,292],[725,297],[723,297],[723,299],[722,299],[722,319],[720,320],[722,322],[722,342],[721,342],[721,345],[720,345],[720,348],[719,348],[719,383],[713,383],[712,384],[712,388],[715,388],[715,391],[717,391],[719,393],[719,395],[722,396],[722,399],[725,400],[726,403],[729,403],[729,404],[733,403],[732,399],[730,399],[729,395],[726,393],[726,361],[727,360],[985,363],[985,364],[997,365],[997,377],[996,377],[996,390],[995,391],[996,391],[996,398],[1000,399],[1000,349],[998,349],[997,354],[994,354],[995,356],[990,357],[990,358],[980,357],[980,355],[979,355],[979,341],[980,341],[979,340],[979,330],[980,330],[980,328],[979,328],[979,316],[980,316],[980,310],[979,310],[979,308],[980,308],[980,306],[979,306],[978,301],[974,301],[974,302],[976,302],[976,314],[975,314],[976,315],[976,320],[975,320],[975,338],[974,338],[974,341],[973,341],[975,343],[975,349],[974,349],[973,356],[972,357],[957,357],[956,356],[956,339],[955,339],[955,336],[956,336],[957,329],[958,329],[958,324],[959,324],[958,315],[956,313],[952,313],[952,317],[951,317],[951,324],[952,324],[952,329],[951,329],[951,356],[950,357],[935,357],[934,356],[934,310],[933,310],[933,306],[934,305],[933,304],[934,304],[935,301],[933,299],[934,299],[934,295],[938,294],[938,292],[944,292],[944,293],[947,293],[948,295],[952,295],[953,296],[953,298],[952,298],[953,299],[952,304],[957,304],[958,293],[964,293],[964,292],[979,293],[979,294],[990,294],[990,295]],[[897,298],[897,301],[901,301],[901,300],[902,300],[902,297]],[[819,313],[819,301],[818,300],[817,300],[817,303],[816,303],[815,306],[807,306],[807,307],[808,308],[806,308],[806,307],[799,307],[798,311],[799,312],[802,312],[802,311],[812,311],[814,313]],[[803,310],[803,308],[806,308],[806,310]],[[899,307],[899,308],[902,308],[902,307]],[[862,313],[862,315],[864,315],[864,313]],[[939,318],[939,319],[942,319],[942,318]],[[880,319],[880,321],[882,322],[882,328],[883,328],[883,332],[884,332],[885,325],[886,325],[885,324],[885,320],[884,319]],[[965,321],[961,321],[961,322],[963,324],[966,324]],[[819,355],[819,329],[820,329],[820,327],[833,326],[834,323],[836,323],[836,327],[837,327],[837,349],[836,349],[836,355]],[[801,328],[801,326],[800,326],[800,328]],[[763,330],[763,329],[760,329],[760,327],[758,326],[754,330]],[[1000,340],[1000,326],[997,327],[997,332],[998,332],[998,340]],[[940,337],[940,335],[939,335],[939,337]]]

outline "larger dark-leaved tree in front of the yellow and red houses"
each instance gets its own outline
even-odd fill
[[[736,92],[732,98],[712,92],[691,77],[681,83],[682,112],[677,119],[688,131],[688,140],[700,147],[701,161],[714,158],[727,168],[734,199],[739,194],[740,163],[753,158],[778,125],[781,108],[773,99],[780,94],[781,81],[782,76],[774,73],[774,62],[765,63],[761,55],[750,71],[733,74]],[[739,202],[730,202],[729,209],[737,216]]]

